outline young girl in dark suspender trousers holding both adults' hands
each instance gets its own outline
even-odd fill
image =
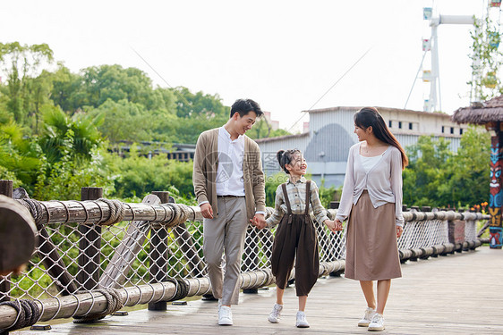
[[[277,152],[277,161],[281,169],[289,175],[289,179],[277,187],[275,210],[267,220],[269,227],[279,222],[271,256],[272,273],[276,276],[277,298],[268,320],[273,323],[279,321],[286,282],[295,260],[295,290],[299,297],[295,325],[308,328],[304,309],[307,295],[318,279],[320,267],[318,238],[310,213],[313,211],[316,220],[324,222],[331,231],[342,230],[342,224],[336,227],[335,222],[328,220],[320,203],[316,184],[303,177],[307,164],[299,150],[280,150]]]

